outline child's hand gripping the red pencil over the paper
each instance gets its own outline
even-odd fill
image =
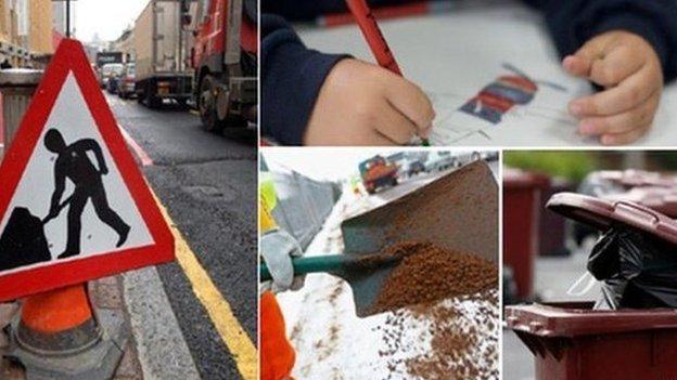
[[[416,84],[379,66],[343,60],[320,89],[306,145],[393,145],[427,137],[435,113]]]

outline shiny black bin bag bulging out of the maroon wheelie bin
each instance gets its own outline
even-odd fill
[[[612,225],[588,258],[602,285],[596,310],[677,307],[677,246],[623,224]]]

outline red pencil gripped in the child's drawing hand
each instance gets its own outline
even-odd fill
[[[379,28],[376,18],[371,13],[369,5],[367,5],[367,0],[346,0],[346,2],[379,65],[401,76],[401,70],[385,41],[385,37],[381,32],[381,28]]]

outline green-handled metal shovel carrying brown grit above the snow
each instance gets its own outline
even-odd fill
[[[357,316],[374,303],[399,258],[380,255],[401,241],[426,241],[498,262],[498,185],[484,161],[474,161],[382,207],[341,224],[344,254],[293,259],[294,273],[329,273],[353,288]],[[365,260],[368,265],[365,265]],[[261,263],[260,279],[270,280]]]

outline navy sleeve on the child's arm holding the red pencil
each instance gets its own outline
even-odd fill
[[[303,135],[320,88],[347,55],[306,48],[284,18],[261,14],[261,132],[285,145]]]

